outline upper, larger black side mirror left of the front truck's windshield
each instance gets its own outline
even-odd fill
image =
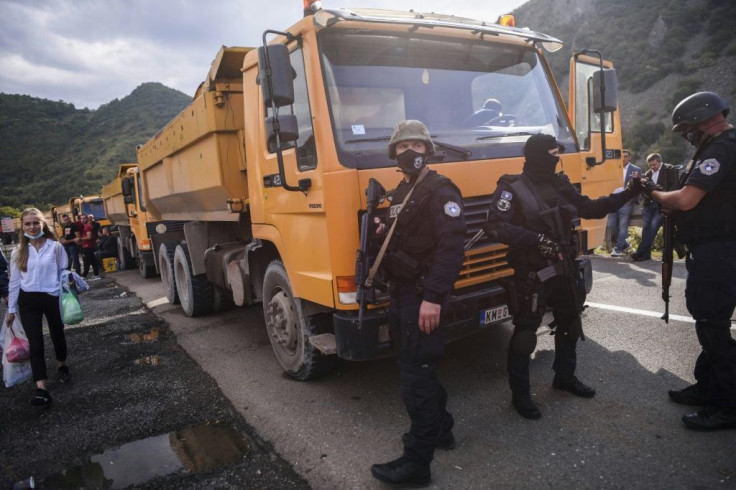
[[[258,83],[261,85],[263,104],[266,107],[271,107],[272,100],[276,107],[294,103],[295,75],[289,61],[289,48],[285,44],[258,48]]]

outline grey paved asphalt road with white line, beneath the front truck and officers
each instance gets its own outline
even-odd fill
[[[540,331],[532,362],[539,421],[510,407],[508,326],[448,347],[440,377],[455,415],[458,447],[436,454],[433,488],[724,488],[736,486],[735,431],[697,433],[688,407],[667,390],[693,382],[699,346],[676,264],[665,324],[659,262],[594,257],[594,287],[578,350],[592,400],[551,389],[552,337]],[[331,375],[297,382],[282,374],[260,306],[191,319],[161,304],[157,280],[136,272],[118,283],[152,306],[235,409],[314,488],[382,488],[370,464],[400,454],[409,422],[392,360],[342,362]]]

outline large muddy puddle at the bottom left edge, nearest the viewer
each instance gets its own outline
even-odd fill
[[[241,459],[248,439],[234,427],[205,424],[134,441],[44,479],[47,488],[125,488],[178,471],[199,473]]]

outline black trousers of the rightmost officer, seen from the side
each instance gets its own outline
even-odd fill
[[[736,241],[689,247],[685,264],[687,309],[702,347],[695,380],[710,405],[736,407],[736,340],[730,330],[736,308]]]

